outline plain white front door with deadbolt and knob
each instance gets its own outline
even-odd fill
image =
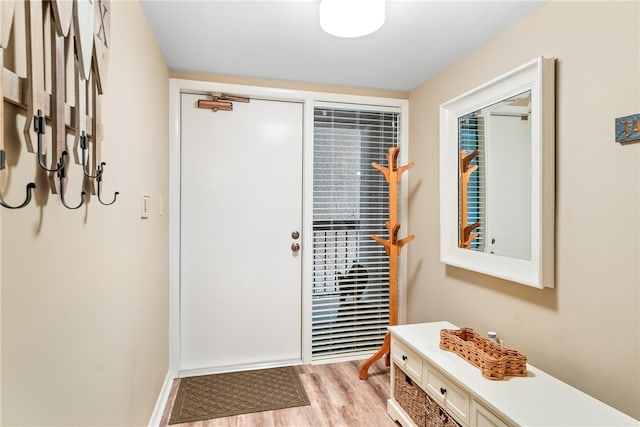
[[[300,103],[181,95],[180,370],[300,362]]]

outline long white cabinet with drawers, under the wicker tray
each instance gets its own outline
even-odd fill
[[[441,417],[449,422],[446,425],[453,425],[451,420],[454,420],[462,427],[640,427],[640,421],[531,365],[527,365],[526,377],[486,379],[471,363],[440,349],[441,329],[457,329],[457,326],[433,322],[389,327],[393,363],[387,412],[403,427],[415,425],[410,413],[418,418],[415,416],[417,405],[406,404],[407,395],[395,396],[396,376],[404,379],[404,374],[411,378],[409,399],[418,395],[426,402],[422,405],[426,407],[427,418]],[[398,400],[410,407],[409,410]],[[439,408],[429,409],[430,402]],[[422,425],[424,418],[420,421]],[[442,425],[428,421],[426,424]]]

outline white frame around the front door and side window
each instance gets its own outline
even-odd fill
[[[205,82],[185,79],[169,79],[169,376],[180,374],[180,94],[182,92],[202,93],[225,92],[279,101],[295,101],[303,104],[303,206],[302,206],[302,362],[311,363],[311,271],[313,254],[305,250],[311,248],[313,236],[313,109],[317,103],[331,102],[389,107],[400,113],[400,163],[408,163],[409,148],[409,101],[406,99],[380,98],[360,95],[345,95],[328,92],[310,92],[291,89],[277,89],[261,86],[246,86],[229,83]],[[222,113],[220,113],[222,114]],[[417,162],[419,164],[419,162]],[[408,230],[408,175],[402,177],[400,192],[400,223]],[[398,266],[398,320],[406,321],[406,249]]]

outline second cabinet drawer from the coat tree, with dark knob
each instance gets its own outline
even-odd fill
[[[469,395],[431,366],[425,364],[425,367],[427,392],[460,423],[469,425]]]

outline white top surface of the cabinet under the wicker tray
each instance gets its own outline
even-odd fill
[[[640,426],[640,421],[527,364],[526,377],[489,380],[457,354],[441,350],[449,322],[391,326],[392,335],[446,372],[486,406],[521,426]],[[614,381],[615,379],[612,379]]]

